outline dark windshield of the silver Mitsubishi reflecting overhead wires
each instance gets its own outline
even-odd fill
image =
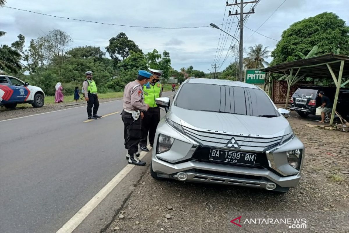
[[[226,112],[240,115],[280,116],[260,89],[185,83],[176,101],[179,108],[196,111]]]

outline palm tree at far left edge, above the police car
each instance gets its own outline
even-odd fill
[[[1,3],[1,0],[0,0]],[[0,37],[6,32],[0,31]],[[7,45],[0,45],[0,70],[8,69],[12,72],[20,70],[21,54]]]

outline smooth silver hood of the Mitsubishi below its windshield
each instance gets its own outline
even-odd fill
[[[168,117],[183,126],[202,130],[225,131],[258,135],[260,137],[279,137],[291,133],[289,122],[283,116],[256,117],[229,113],[195,111],[171,106]]]

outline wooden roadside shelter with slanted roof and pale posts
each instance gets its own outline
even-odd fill
[[[301,59],[282,63],[275,66],[270,66],[261,71],[265,71],[266,83],[270,82],[270,74],[277,73],[283,74],[287,78],[287,96],[286,104],[289,102],[290,88],[297,83],[299,80],[306,78],[322,78],[322,79],[333,79],[336,85],[336,94],[333,102],[332,115],[330,125],[333,124],[334,114],[337,107],[339,89],[349,83],[349,57],[325,54],[319,57]],[[346,78],[346,82],[342,83],[342,78]]]

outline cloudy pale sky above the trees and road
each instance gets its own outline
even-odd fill
[[[256,30],[283,1],[260,0],[255,8],[255,14],[251,14],[247,20],[246,27]],[[232,16],[227,16],[230,7],[226,8],[225,2],[226,0],[7,0],[6,6],[74,19],[147,27],[208,26],[211,22],[222,24],[226,10],[224,23],[231,24],[224,25],[223,29],[226,27],[226,30],[234,34],[237,19],[233,20]],[[232,3],[232,0],[229,0],[229,3]],[[246,5],[245,11],[250,7],[251,4]],[[286,0],[258,32],[279,40],[282,31],[293,22],[322,12],[334,12],[348,24],[348,9],[348,0]],[[236,9],[232,7],[231,10],[235,12]],[[0,8],[0,30],[7,32],[6,36],[0,38],[0,44],[10,45],[17,39],[18,34],[23,34],[29,41],[54,28],[66,31],[72,36],[74,40],[72,47],[92,45],[100,46],[103,50],[111,37],[119,32],[125,32],[144,53],[154,48],[161,52],[169,51],[172,67],[177,70],[192,65],[194,69],[207,73],[209,72],[207,69],[211,69],[211,64],[214,62],[221,64],[220,70],[223,70],[234,60],[230,54],[227,56],[231,38],[218,46],[220,31],[210,27],[189,29],[120,27]],[[244,29],[245,48],[260,43],[269,46],[270,50],[275,48],[277,43],[275,40],[257,33],[252,35],[253,31],[250,29]],[[225,42],[223,34],[221,41],[222,38]],[[218,53],[216,53],[217,46]]]

